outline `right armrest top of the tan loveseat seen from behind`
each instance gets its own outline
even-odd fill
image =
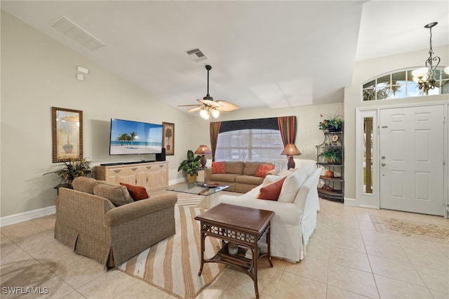
[[[107,211],[106,225],[113,227],[121,222],[133,220],[135,218],[148,215],[170,206],[175,206],[177,201],[176,194],[164,194],[149,199],[134,201],[130,204],[118,206],[112,210]]]

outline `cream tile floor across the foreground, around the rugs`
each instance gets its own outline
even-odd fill
[[[307,257],[260,262],[260,298],[449,298],[449,245],[376,232],[369,215],[448,225],[441,217],[352,208],[321,200]],[[173,298],[118,270],[76,255],[53,239],[54,215],[1,227],[5,286],[40,286],[23,298]],[[41,291],[45,291],[42,289]],[[197,298],[254,298],[253,281],[228,267]]]

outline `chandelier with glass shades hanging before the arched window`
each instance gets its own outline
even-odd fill
[[[442,83],[438,81],[441,78],[443,71],[437,69],[440,64],[440,58],[434,55],[434,50],[432,49],[432,27],[434,27],[438,22],[431,22],[424,26],[424,28],[429,28],[430,31],[430,48],[429,48],[429,58],[426,60],[426,67],[421,67],[415,69],[412,72],[413,81],[418,84],[418,88],[423,90],[425,93],[429,92],[429,89],[434,89],[435,87],[440,88],[448,83],[448,80]],[[449,74],[449,67],[445,67],[444,72]]]

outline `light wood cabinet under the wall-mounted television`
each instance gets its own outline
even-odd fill
[[[116,185],[125,182],[149,191],[157,190],[168,186],[168,161],[95,166],[95,178]]]

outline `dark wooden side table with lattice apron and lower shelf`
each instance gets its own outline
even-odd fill
[[[268,257],[270,267],[273,267],[270,256],[270,225],[273,211],[235,206],[233,204],[218,204],[210,210],[195,217],[201,221],[201,267],[198,275],[203,272],[204,263],[223,263],[244,270],[254,281],[255,297],[259,298],[257,288],[257,261],[264,256]],[[267,235],[267,252],[259,249],[260,240]],[[204,239],[215,237],[222,240],[222,248],[213,258],[204,258]],[[239,245],[236,255],[228,253],[228,242]],[[250,255],[246,255],[246,251]],[[247,258],[247,257],[248,258]]]

